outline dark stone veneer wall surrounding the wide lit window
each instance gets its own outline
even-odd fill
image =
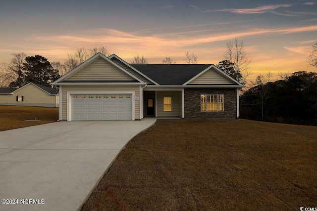
[[[230,88],[185,88],[185,118],[190,117],[237,117],[237,90]],[[200,104],[201,94],[223,94],[224,110],[202,112]]]

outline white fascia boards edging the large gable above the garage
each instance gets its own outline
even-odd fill
[[[63,81],[71,76],[73,76],[74,74],[76,74],[78,71],[80,71],[81,69],[87,67],[88,65],[90,65],[91,63],[93,63],[94,61],[96,61],[99,58],[103,58],[105,59],[107,62],[109,62],[110,64],[112,64],[113,66],[117,67],[118,69],[120,69],[121,71],[123,71],[124,73],[128,74],[129,76],[131,76],[132,78],[134,78],[135,80],[137,80],[140,83],[144,83],[142,82],[142,80],[140,80],[139,78],[137,78],[136,76],[134,76],[133,74],[129,73],[128,71],[126,71],[124,68],[120,67],[119,65],[117,65],[115,62],[113,62],[111,59],[109,59],[108,57],[106,57],[104,54],[102,53],[97,53],[94,56],[92,56],[91,58],[89,58],[88,60],[86,60],[85,62],[81,63],[80,65],[78,65],[77,67],[75,67],[73,70],[69,71],[68,73],[66,73],[65,75],[63,75],[62,77],[60,77],[59,79],[57,79],[56,81],[53,82],[54,85],[56,85],[58,82]]]

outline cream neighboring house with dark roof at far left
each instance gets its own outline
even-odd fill
[[[58,89],[29,83],[20,88],[0,88],[0,105],[58,107]]]

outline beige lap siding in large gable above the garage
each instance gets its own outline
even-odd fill
[[[136,81],[103,58],[96,60],[66,81]]]

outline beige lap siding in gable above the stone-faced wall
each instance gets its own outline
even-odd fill
[[[219,73],[210,69],[189,84],[234,84]]]

